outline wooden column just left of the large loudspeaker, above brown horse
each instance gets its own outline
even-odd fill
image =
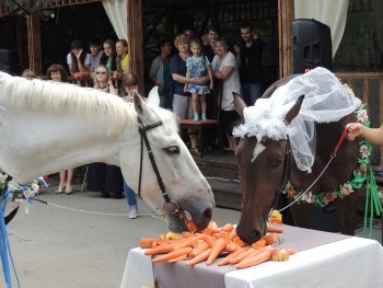
[[[293,73],[292,21],[294,1],[278,0],[279,77]]]

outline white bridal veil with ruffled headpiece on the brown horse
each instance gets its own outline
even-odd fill
[[[299,115],[287,124],[286,114],[304,95]],[[278,88],[269,99],[258,99],[244,110],[244,124],[233,129],[236,137],[280,140],[289,137],[297,165],[311,172],[315,155],[315,123],[337,122],[360,105],[352,91],[334,73],[318,67]]]

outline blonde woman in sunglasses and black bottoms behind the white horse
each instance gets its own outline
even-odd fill
[[[98,65],[94,69],[94,88],[111,93],[111,96],[118,96],[117,89],[112,84],[111,72],[104,65]],[[124,178],[121,170],[115,165],[105,163],[92,163],[88,165],[88,191],[101,191],[102,198],[114,195],[116,199],[123,198]]]

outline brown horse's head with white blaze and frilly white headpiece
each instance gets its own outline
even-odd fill
[[[271,116],[246,124],[246,113],[251,112],[245,111],[245,123],[236,127],[236,131],[234,129],[234,135],[241,136],[235,155],[242,182],[242,214],[236,232],[248,244],[266,233],[268,215],[286,185],[289,168],[287,129],[302,101],[303,96],[299,97],[280,119]]]

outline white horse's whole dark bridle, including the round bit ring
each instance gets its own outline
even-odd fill
[[[152,148],[150,146],[150,142],[149,142],[149,139],[147,136],[147,131],[154,129],[156,127],[160,127],[161,125],[163,125],[163,123],[161,120],[159,120],[159,122],[155,122],[155,123],[152,123],[152,124],[144,126],[142,123],[142,119],[140,117],[138,117],[138,124],[139,124],[138,131],[141,135],[141,157],[140,157],[140,176],[139,176],[139,184],[138,184],[138,195],[141,197],[141,177],[142,177],[142,159],[143,159],[142,139],[143,139],[144,145],[146,145],[147,150],[148,150],[150,163],[152,164],[152,168],[153,168],[154,174],[156,176],[156,181],[159,183],[162,196],[165,200],[165,204],[163,205],[163,209],[169,215],[175,215],[175,214],[179,212],[179,205],[175,200],[172,200],[167,195],[165,185],[163,184],[159,168],[156,166],[156,163],[155,163]]]

